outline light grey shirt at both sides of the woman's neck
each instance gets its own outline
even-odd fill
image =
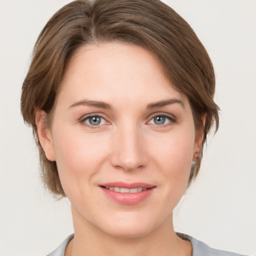
[[[195,238],[187,234],[177,233],[177,235],[182,239],[189,240],[191,242],[193,248],[192,256],[242,256],[241,254],[237,254],[234,252],[213,249],[204,242],[196,240]],[[73,236],[74,235],[71,234],[68,237],[66,237],[66,239],[47,256],[64,256],[66,246],[68,242],[72,240]]]

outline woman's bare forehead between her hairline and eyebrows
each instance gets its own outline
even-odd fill
[[[140,46],[120,42],[78,48],[66,67],[59,97],[69,102],[89,97],[129,104],[185,98],[165,78],[153,54]]]

